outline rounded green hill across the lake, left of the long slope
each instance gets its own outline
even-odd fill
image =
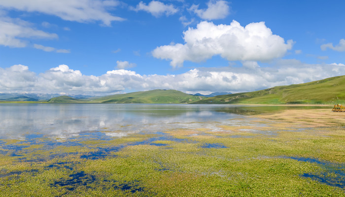
[[[176,90],[151,90],[90,99],[93,103],[186,103],[205,97],[192,96]]]

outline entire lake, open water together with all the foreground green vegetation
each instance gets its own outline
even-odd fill
[[[345,196],[330,106],[2,104],[0,196]]]

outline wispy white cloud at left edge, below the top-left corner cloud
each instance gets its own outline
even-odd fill
[[[9,47],[26,47],[28,42],[25,38],[58,38],[58,35],[55,33],[46,33],[40,30],[35,30],[31,23],[20,19],[1,17],[0,27],[0,45]]]

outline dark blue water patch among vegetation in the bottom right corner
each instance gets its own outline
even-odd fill
[[[304,173],[301,176],[311,178],[312,180],[324,183],[329,186],[339,187],[345,189],[345,165],[335,164],[327,161],[320,161],[315,158],[304,157],[283,157],[286,159],[293,159],[300,162],[309,162],[319,165],[324,171],[316,174]]]

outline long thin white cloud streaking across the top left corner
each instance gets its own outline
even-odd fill
[[[27,12],[40,12],[54,15],[67,21],[102,21],[110,26],[112,21],[123,21],[111,15],[107,9],[119,5],[117,0],[1,0],[0,6]]]

